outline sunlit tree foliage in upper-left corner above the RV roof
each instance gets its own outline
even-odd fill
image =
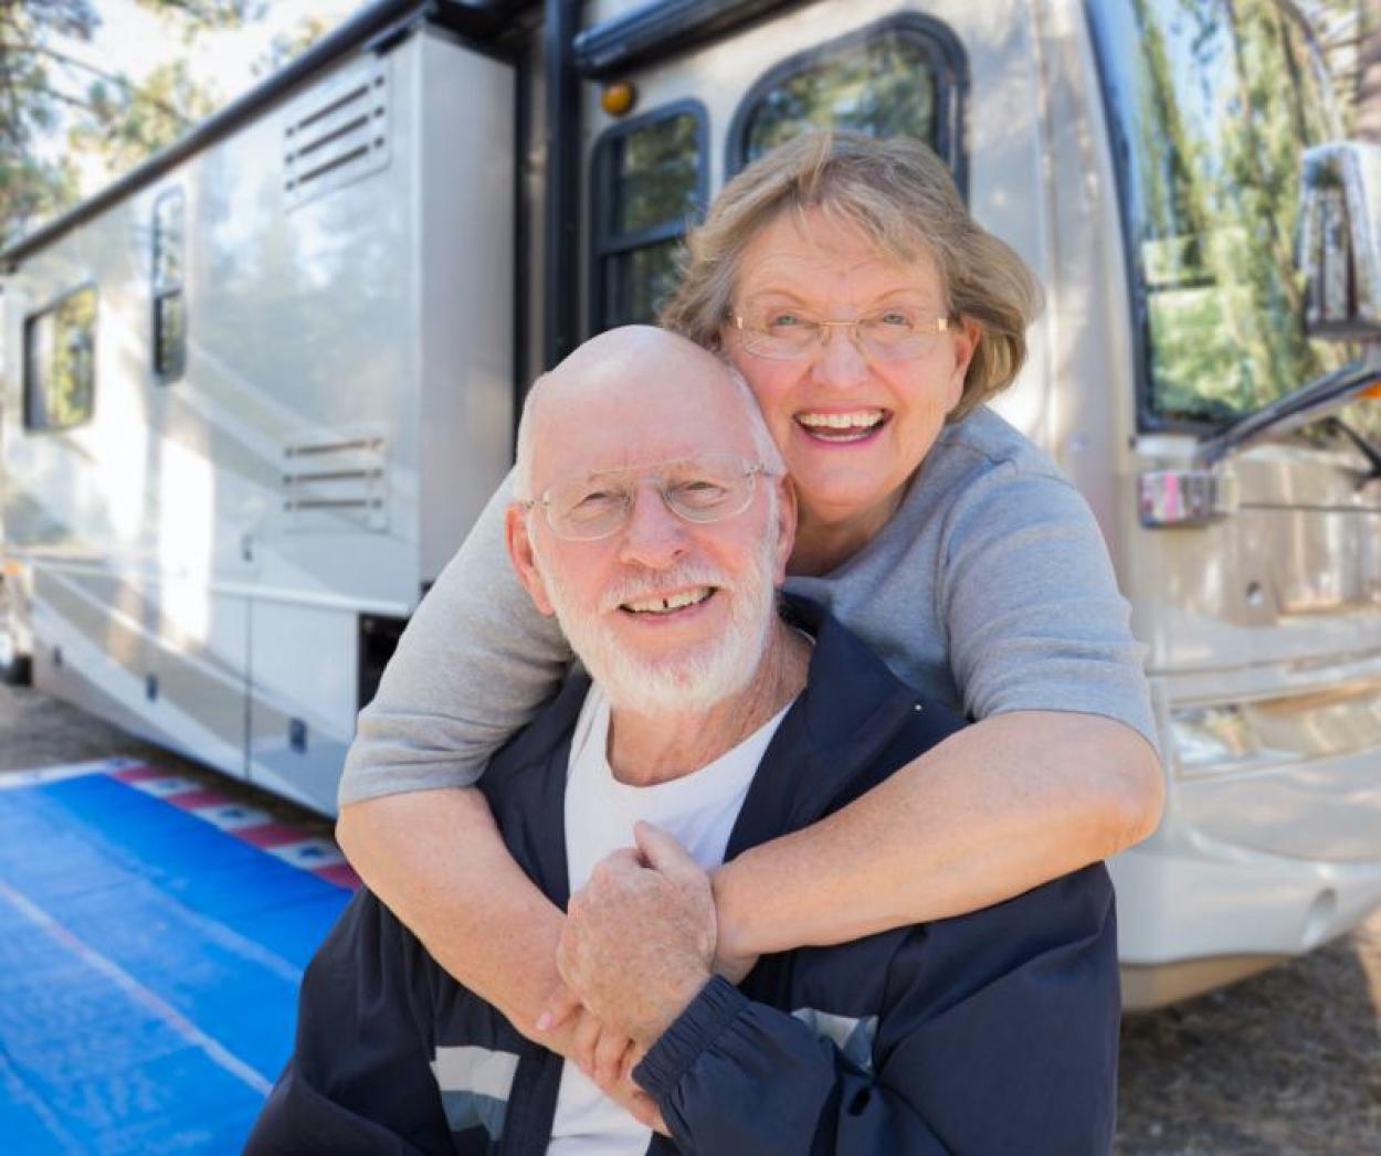
[[[137,0],[175,28],[184,43],[203,32],[258,19],[267,0]],[[171,143],[218,103],[185,61],[135,83],[117,65],[79,61],[64,41],[90,41],[101,25],[93,0],[0,0],[0,247],[77,197],[75,152],[112,170]],[[41,143],[66,128],[69,149]]]

